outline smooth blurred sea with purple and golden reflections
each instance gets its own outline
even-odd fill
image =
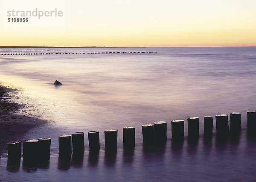
[[[8,49],[4,49],[5,51]],[[47,119],[23,139],[52,138],[49,166],[7,167],[0,180],[254,180],[256,139],[247,135],[246,111],[256,109],[256,48],[18,48],[1,55],[0,82],[23,88],[11,100],[19,114]],[[30,50],[30,51],[28,51]],[[31,51],[33,50],[33,51]],[[56,50],[56,51],[53,51]],[[2,50],[3,51],[3,50]],[[156,53],[87,54],[87,52]],[[45,53],[52,52],[51,55]],[[54,54],[55,52],[61,54]],[[63,54],[63,53],[86,54]],[[0,53],[7,53],[1,52]],[[44,55],[34,55],[44,53]],[[61,86],[54,86],[58,80]],[[242,113],[239,139],[204,138],[204,115]],[[187,139],[188,117],[199,117],[200,137]],[[171,120],[185,120],[185,140],[171,140]],[[143,148],[141,125],[167,122],[165,147]],[[136,147],[124,151],[122,127],[135,126]],[[105,154],[104,130],[118,130],[116,154]],[[89,154],[87,132],[100,131],[101,151]],[[58,136],[85,133],[85,153],[58,159]]]

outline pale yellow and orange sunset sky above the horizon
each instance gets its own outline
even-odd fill
[[[1,5],[0,46],[256,46],[256,0],[1,0]],[[55,10],[61,16],[50,16]]]

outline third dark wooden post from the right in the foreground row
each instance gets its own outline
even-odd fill
[[[215,116],[216,119],[216,131],[218,135],[228,135],[228,116],[227,114],[218,114]]]

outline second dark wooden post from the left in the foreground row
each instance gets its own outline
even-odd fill
[[[23,142],[23,160],[37,161],[38,157],[38,139],[28,139]]]

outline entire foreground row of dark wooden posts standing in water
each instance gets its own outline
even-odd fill
[[[217,135],[228,135],[229,131],[237,133],[241,130],[241,113],[233,112],[230,114],[230,122],[227,114],[218,114],[216,119]],[[199,118],[190,117],[188,123],[188,138],[199,137]],[[229,124],[230,123],[230,130]],[[184,139],[184,120],[172,120],[172,139]],[[211,136],[213,128],[212,116],[204,116],[204,135]],[[247,111],[247,128],[249,131],[256,130],[256,111]],[[157,121],[153,124],[142,125],[144,144],[164,144],[167,140],[167,122]],[[117,149],[117,130],[105,130],[105,150],[115,151]],[[99,151],[99,131],[88,132],[90,151]],[[72,145],[71,145],[72,143]],[[38,155],[41,159],[49,159],[50,138],[30,139],[23,142],[23,160],[35,160]],[[135,147],[135,127],[123,128],[124,148]],[[61,135],[58,137],[59,154],[71,154],[84,152],[84,133],[76,132],[71,135]],[[8,158],[20,159],[21,142],[14,141],[8,143]]]

